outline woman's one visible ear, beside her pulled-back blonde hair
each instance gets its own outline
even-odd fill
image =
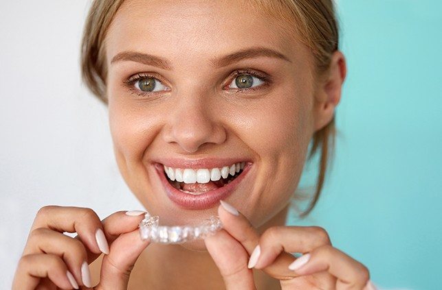
[[[329,70],[321,77],[324,81],[316,88],[313,107],[315,132],[324,128],[333,119],[335,108],[341,99],[345,76],[345,57],[342,52],[335,51],[331,56]]]

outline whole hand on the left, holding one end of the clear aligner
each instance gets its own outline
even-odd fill
[[[148,245],[138,232],[143,213],[127,213],[113,213],[100,221],[90,208],[41,208],[32,224],[12,289],[78,289],[78,285],[91,288],[88,265],[102,252],[105,256],[100,284],[94,289],[126,289],[131,269]],[[63,232],[78,235],[71,238]]]

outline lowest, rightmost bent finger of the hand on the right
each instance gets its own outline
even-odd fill
[[[363,289],[370,279],[369,271],[364,265],[331,245],[322,245],[301,256],[290,268],[299,275],[328,271],[338,279],[338,290]]]

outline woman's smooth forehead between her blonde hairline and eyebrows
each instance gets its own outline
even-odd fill
[[[126,0],[109,27],[107,60],[120,51],[148,51],[195,61],[247,47],[306,57],[295,32],[253,1]]]

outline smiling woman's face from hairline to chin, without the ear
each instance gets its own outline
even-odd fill
[[[287,206],[314,130],[313,56],[287,35],[245,1],[118,10],[106,40],[115,156],[162,223],[201,221],[222,199],[261,226]],[[241,162],[236,178],[208,182]]]

